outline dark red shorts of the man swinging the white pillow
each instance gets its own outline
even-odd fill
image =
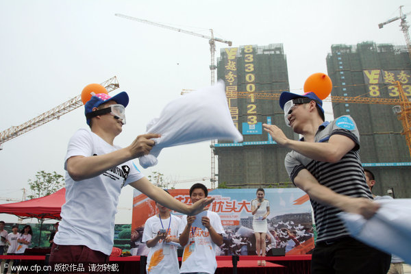
[[[49,258],[50,273],[110,273],[110,256],[85,245],[56,245]]]

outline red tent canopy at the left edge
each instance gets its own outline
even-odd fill
[[[0,205],[0,213],[14,214],[21,219],[61,219],[60,212],[65,201],[66,188],[62,188],[45,197],[18,203],[4,203]]]

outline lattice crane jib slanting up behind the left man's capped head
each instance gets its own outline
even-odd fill
[[[101,86],[104,86],[105,89],[110,92],[112,90],[115,90],[116,88],[119,88],[119,82],[117,82],[117,77],[111,77],[107,81],[101,83]],[[44,125],[45,123],[48,123],[49,121],[52,121],[54,119],[60,119],[60,116],[71,112],[72,110],[75,110],[76,108],[79,108],[83,105],[82,103],[82,95],[77,95],[73,99],[70,99],[69,101],[66,101],[62,103],[61,105],[58,105],[55,108],[52,108],[51,110],[44,112],[40,114],[39,116],[21,124],[18,126],[12,126],[9,127],[8,129],[5,129],[5,131],[0,132],[0,150],[1,150],[1,145],[3,142],[7,142],[8,140],[12,140],[12,138],[16,138],[17,136],[20,136],[21,134],[25,134],[26,132],[29,132],[32,129],[35,129],[36,127],[40,127],[40,125]]]

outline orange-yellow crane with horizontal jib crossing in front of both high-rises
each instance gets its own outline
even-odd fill
[[[399,81],[394,82],[399,90],[399,99],[386,99],[386,98],[370,98],[370,97],[346,97],[346,96],[330,96],[323,100],[323,102],[332,101],[332,103],[371,103],[380,105],[395,105],[393,112],[397,114],[397,118],[403,125],[403,132],[401,135],[406,137],[406,142],[411,156],[411,101],[407,98],[401,83]],[[281,93],[265,93],[265,92],[226,92],[227,97],[234,98],[247,98],[253,96],[253,99],[271,99],[278,100]]]

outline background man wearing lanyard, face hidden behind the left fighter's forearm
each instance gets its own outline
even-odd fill
[[[181,219],[171,214],[169,208],[160,203],[155,205],[158,214],[147,219],[142,234],[142,242],[150,248],[147,256],[147,274],[178,274],[177,233]]]

